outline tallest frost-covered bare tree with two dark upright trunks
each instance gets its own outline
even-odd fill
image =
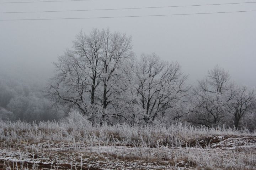
[[[118,92],[115,84],[120,66],[133,56],[131,37],[93,29],[89,35],[80,32],[73,44],[74,49],[54,63],[57,74],[48,86],[48,95],[57,104],[75,106],[84,114],[94,105],[105,110]]]

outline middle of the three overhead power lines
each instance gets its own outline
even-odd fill
[[[249,4],[256,2],[238,2],[225,4],[203,4],[203,5],[180,5],[180,6],[158,6],[158,7],[137,7],[137,8],[109,8],[109,9],[92,9],[92,10],[63,10],[63,11],[21,11],[21,12],[0,12],[0,13],[35,13],[35,12],[75,12],[75,11],[106,11],[106,10],[133,10],[148,8],[170,8],[170,7],[189,7],[189,6],[209,6],[209,5],[230,5],[230,4]]]

